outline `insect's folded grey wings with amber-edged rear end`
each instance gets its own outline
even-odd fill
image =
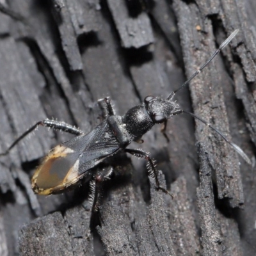
[[[106,122],[103,122],[92,132],[53,148],[33,175],[32,188],[35,193],[60,193],[76,184],[84,175],[90,179],[91,173],[88,171],[91,168],[121,149],[108,129]]]

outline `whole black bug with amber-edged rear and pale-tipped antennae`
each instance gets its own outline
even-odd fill
[[[132,141],[141,142],[143,134],[148,132],[155,124],[164,124],[163,133],[168,119],[172,116],[187,113],[194,118],[200,120],[212,130],[220,134],[220,136],[231,145],[234,150],[240,154],[243,159],[250,163],[250,159],[236,144],[229,141],[218,129],[208,124],[199,116],[194,115],[180,109],[179,104],[173,100],[175,93],[184,88],[195,76],[197,76],[211,60],[237,35],[236,29],[228,38],[220,45],[220,47],[212,54],[202,67],[189,77],[175,92],[170,93],[167,99],[161,97],[147,96],[143,104],[135,106],[125,113],[124,116],[115,115],[115,111],[109,98],[105,98],[106,103],[106,118],[88,134],[72,127],[72,125],[58,122],[56,120],[44,120],[33,125],[28,131],[24,132],[6,152],[0,156],[8,154],[10,150],[19,143],[30,132],[35,130],[39,125],[58,129],[60,131],[69,132],[76,135],[71,140],[54,147],[47,156],[45,156],[42,164],[36,169],[31,180],[31,186],[36,194],[51,195],[61,193],[63,190],[76,185],[79,180],[92,180],[93,209],[97,209],[99,205],[99,187],[104,180],[109,179],[114,172],[113,168],[95,170],[95,166],[104,163],[109,157],[117,154],[120,151],[132,154],[136,157],[141,157],[148,161],[148,170],[150,175],[156,180],[156,188],[168,193],[166,189],[161,188],[157,179],[157,170],[154,160],[147,152],[138,149],[130,149],[127,146]],[[166,136],[166,138],[168,138]]]

